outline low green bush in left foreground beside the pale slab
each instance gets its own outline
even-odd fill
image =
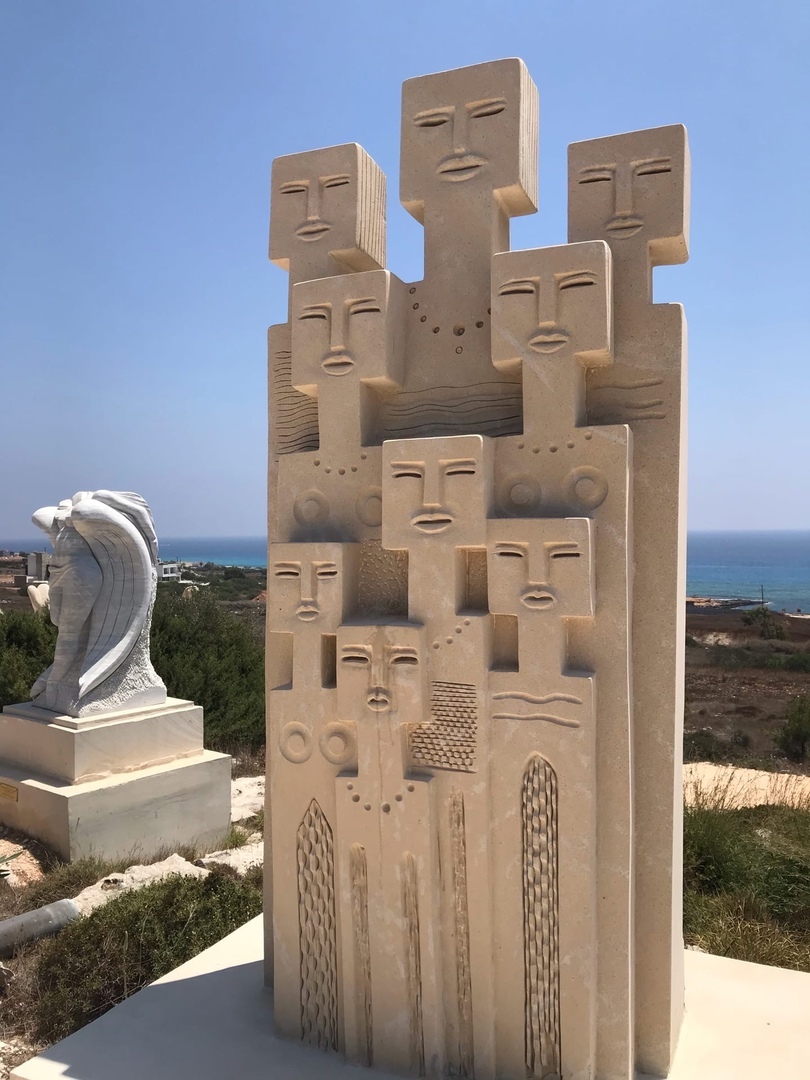
[[[124,893],[43,942],[37,1037],[65,1038],[259,915],[254,881],[171,877]]]

